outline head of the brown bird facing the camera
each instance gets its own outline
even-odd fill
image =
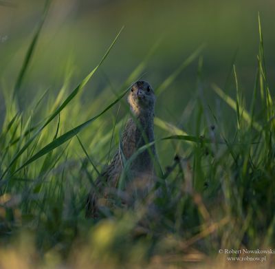
[[[153,113],[155,109],[155,94],[153,88],[148,82],[138,80],[131,87],[128,102],[135,114]]]

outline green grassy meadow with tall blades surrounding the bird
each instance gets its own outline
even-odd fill
[[[239,263],[227,259],[239,255],[224,253],[275,246],[275,107],[265,18],[259,14],[254,29],[254,76],[244,83],[234,54],[225,81],[206,84],[212,69],[203,44],[162,76],[147,74],[165,36],[144,45],[146,53],[135,65],[124,63],[127,72],[116,79],[122,63],[111,57],[122,27],[108,33],[101,58],[93,56],[84,76],[68,52],[54,83],[41,86],[52,67],[35,60],[45,62],[38,44],[49,9],[47,1],[17,72],[8,70],[14,63],[1,66],[0,268],[274,268],[272,253],[250,255],[264,262]],[[32,80],[33,61],[41,74]],[[135,208],[114,202],[99,219],[85,219],[87,193],[118,148],[130,116],[126,94],[139,78],[155,82],[155,189],[162,197],[149,193]],[[152,202],[156,210],[149,212]]]

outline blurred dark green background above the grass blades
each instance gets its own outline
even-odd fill
[[[34,31],[41,19],[45,1],[10,1],[0,6],[0,87],[13,89]],[[266,66],[270,84],[274,83],[275,59],[272,54],[275,2],[265,1],[52,1],[50,12],[39,37],[34,56],[20,91],[21,108],[29,107],[34,96],[50,89],[54,98],[65,78],[70,76],[69,89],[94,68],[107,47],[125,26],[107,61],[85,88],[83,107],[107,105],[113,100],[113,89],[119,90],[133,69],[139,65],[156,44],[142,74],[153,87],[163,80],[200,45],[203,59],[203,93],[212,109],[230,115],[226,105],[212,91],[217,83],[234,96],[234,78],[230,74],[236,64],[241,91],[248,103],[256,74],[256,54],[259,47],[258,12],[262,18]],[[184,69],[165,92],[157,96],[156,115],[194,133],[192,120],[184,125],[184,110],[197,95],[198,60]],[[70,75],[69,75],[70,74]],[[0,100],[1,102],[1,100]],[[117,107],[114,109],[114,113]],[[1,115],[3,116],[3,102]],[[123,115],[123,109],[121,111]],[[71,126],[91,115],[74,117]],[[183,116],[184,115],[184,116]],[[1,117],[2,118],[2,117]],[[1,119],[2,120],[2,119]],[[110,122],[109,116],[102,120]],[[236,125],[229,121],[228,127]],[[159,133],[161,136],[161,133]],[[173,150],[171,149],[171,154]]]

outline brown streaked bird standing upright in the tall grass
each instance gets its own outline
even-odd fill
[[[98,218],[100,207],[108,204],[113,190],[118,192],[118,184],[124,163],[129,160],[137,149],[147,143],[153,142],[155,116],[155,93],[153,87],[145,81],[138,80],[131,86],[128,95],[130,117],[127,120],[120,138],[120,145],[109,165],[105,166],[102,173],[94,182],[94,188],[88,194],[86,203],[86,217]],[[129,166],[127,172],[127,183],[124,186],[126,193],[132,199],[129,204],[135,202],[135,198],[143,196],[153,186],[154,158],[157,158],[155,144],[137,154]],[[131,200],[130,199],[130,200]]]

